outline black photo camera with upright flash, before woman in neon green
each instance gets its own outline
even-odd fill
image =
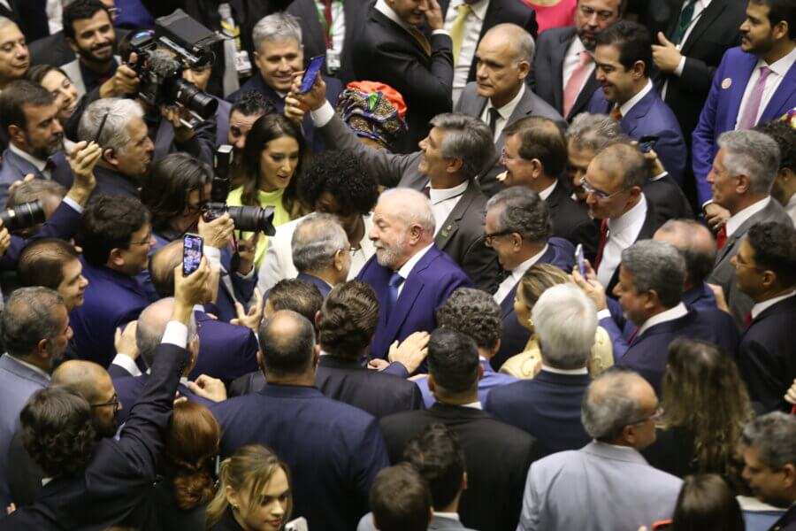
[[[203,207],[205,221],[216,219],[229,213],[235,222],[235,228],[245,232],[263,232],[272,236],[276,233],[273,227],[273,207],[229,206],[226,196],[229,195],[229,166],[232,162],[231,145],[222,145],[216,150],[213,189],[210,191],[210,202]]]

